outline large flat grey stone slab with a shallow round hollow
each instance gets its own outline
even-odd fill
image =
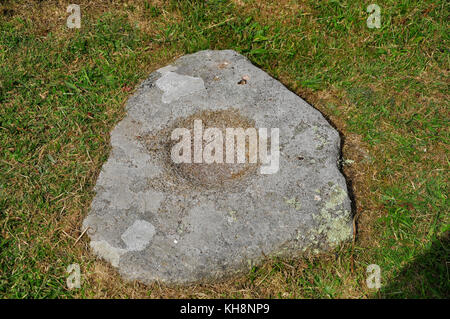
[[[152,73],[126,107],[83,223],[93,252],[125,278],[212,281],[264,256],[318,252],[352,237],[338,132],[242,55],[183,56]],[[170,132],[195,116],[279,128],[279,170],[174,165]]]

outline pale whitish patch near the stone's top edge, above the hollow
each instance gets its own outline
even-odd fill
[[[203,79],[168,71],[156,81],[156,86],[162,90],[162,102],[171,103],[182,96],[206,91]]]

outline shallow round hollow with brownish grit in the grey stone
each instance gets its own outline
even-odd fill
[[[194,122],[201,121],[202,133],[208,128],[217,128],[222,134],[222,163],[205,163],[203,160],[200,163],[195,163],[193,161],[194,154]],[[237,156],[234,157],[233,163],[226,163],[225,154],[227,149],[226,143],[226,129],[243,129],[255,128],[254,121],[242,116],[237,110],[219,110],[219,111],[201,111],[192,114],[191,116],[181,118],[175,121],[175,124],[169,130],[169,135],[171,131],[176,128],[185,128],[191,132],[191,163],[174,163],[172,160],[171,167],[175,173],[185,180],[190,181],[194,185],[201,185],[207,187],[215,186],[226,186],[230,183],[238,182],[239,180],[245,178],[249,174],[253,174],[258,166],[258,163],[250,163],[250,141],[248,136],[245,139],[245,162],[238,163]],[[256,131],[256,128],[255,128]],[[180,140],[172,140],[168,136],[169,141],[166,144],[165,152],[171,154],[173,147],[180,142]],[[201,139],[202,151],[211,140],[207,138]],[[234,153],[236,153],[237,140],[234,138]],[[213,152],[212,154],[215,154]]]

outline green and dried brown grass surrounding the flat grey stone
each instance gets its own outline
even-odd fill
[[[77,3],[81,29],[68,4],[2,1],[0,297],[450,297],[446,1],[376,1],[380,29],[367,1]],[[339,129],[356,240],[219,284],[124,282],[77,241],[109,132],[151,71],[203,49],[246,55]]]

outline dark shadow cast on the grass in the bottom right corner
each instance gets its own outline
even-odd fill
[[[450,298],[450,232],[435,239],[400,274],[381,289],[384,298]]]

